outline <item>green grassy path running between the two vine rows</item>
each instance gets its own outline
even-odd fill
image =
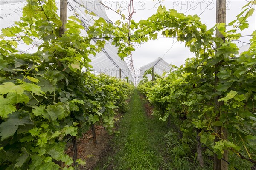
[[[200,167],[195,156],[195,142],[178,141],[177,133],[167,123],[148,116],[138,91],[129,102],[129,111],[117,122],[110,149],[93,170],[212,170],[212,153],[205,150],[205,166]],[[193,139],[192,139],[193,140]],[[192,144],[192,145],[191,145]],[[185,152],[185,153],[184,153]],[[208,159],[207,159],[208,158]],[[252,164],[236,157],[230,160],[239,170],[249,170]],[[234,163],[234,162],[233,162]],[[232,169],[232,168],[231,168]]]

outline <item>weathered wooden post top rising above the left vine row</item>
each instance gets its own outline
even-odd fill
[[[60,37],[62,34],[64,34],[67,29],[65,28],[65,25],[67,23],[67,0],[60,0],[60,19],[62,21],[62,26],[60,28]]]

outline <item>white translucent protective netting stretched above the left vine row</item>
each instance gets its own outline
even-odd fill
[[[85,30],[82,31],[84,36],[86,35],[88,27],[92,26],[94,20],[99,17],[111,22],[108,19],[105,8],[100,2],[100,0],[68,0],[68,17],[76,16],[81,20],[82,25],[85,28]],[[20,21],[20,17],[22,17],[22,8],[26,3],[26,0],[0,0],[0,30],[13,26],[15,21]],[[56,1],[56,3],[59,7],[60,1]],[[96,14],[96,17],[93,17],[92,19],[89,14],[85,13],[85,10],[93,12]],[[33,53],[37,51],[38,46],[43,41],[36,40],[33,37],[32,39],[34,40],[32,45],[19,43],[18,50],[20,53]],[[120,78],[119,71],[121,69],[121,78],[126,79],[126,77],[128,77],[131,82],[134,82],[131,71],[127,66],[128,63],[121,60],[117,55],[117,48],[111,45],[111,42],[107,42],[105,47],[102,48],[102,52],[97,53],[96,56],[90,55],[89,58],[91,59],[90,64],[93,66],[95,74],[104,73]]]

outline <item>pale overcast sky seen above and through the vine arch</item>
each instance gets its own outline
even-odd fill
[[[102,2],[114,10],[118,9],[116,5],[119,3],[123,8],[122,13],[125,14],[125,16],[128,16],[127,6],[129,1],[102,0]],[[227,0],[227,23],[234,20],[236,15],[241,12],[242,6],[247,3],[247,0]],[[201,21],[207,25],[207,29],[212,28],[215,25],[216,0],[164,0],[162,1],[162,5],[166,6],[167,9],[175,9],[186,15],[200,15]],[[134,11],[136,13],[133,14],[132,19],[135,21],[147,19],[152,14],[156,13],[158,6],[159,3],[157,0],[134,0]],[[106,12],[110,20],[116,21],[120,19],[118,14],[109,9],[106,9]],[[249,23],[250,28],[244,30],[242,35],[249,35],[256,30],[255,12],[253,13],[253,16],[250,17]],[[249,42],[250,38],[243,37],[240,40]],[[239,46],[241,45],[242,43],[240,42]],[[163,57],[164,54],[166,55]],[[133,53],[134,68],[138,69],[141,66],[154,61],[157,57],[163,57],[166,62],[180,66],[185,62],[187,57],[193,56],[194,54],[192,54],[189,51],[189,48],[186,48],[183,43],[177,42],[175,39],[171,38],[160,38],[158,40],[151,40],[140,46],[137,45],[136,51]]]

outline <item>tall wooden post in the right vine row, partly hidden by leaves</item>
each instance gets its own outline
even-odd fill
[[[216,23],[226,23],[226,0],[217,0],[217,4],[216,4]],[[217,38],[221,38],[223,40],[223,42],[225,42],[225,37],[220,33],[220,31],[218,31],[218,29],[216,30],[216,37]],[[216,45],[216,48],[218,48],[218,45]],[[215,92],[216,90],[216,86],[219,83],[217,74],[219,72],[219,67],[221,66],[221,62],[217,63],[215,65],[215,67],[217,68],[215,71]],[[218,113],[216,115],[216,121],[218,121],[220,115],[220,109],[221,106],[224,104],[223,102],[218,102],[218,99],[220,99],[221,96],[215,96],[215,112]],[[218,135],[215,137],[214,142],[218,142],[221,139],[225,139],[227,137],[227,132],[224,128],[222,128],[221,126],[215,126],[214,127],[214,131],[215,133]],[[224,154],[223,154],[223,159],[225,159],[226,161],[228,161],[228,153],[227,150],[224,150]],[[214,165],[213,165],[213,170],[227,170],[228,169],[228,164],[221,160],[218,159],[218,156],[215,154],[214,155]]]

